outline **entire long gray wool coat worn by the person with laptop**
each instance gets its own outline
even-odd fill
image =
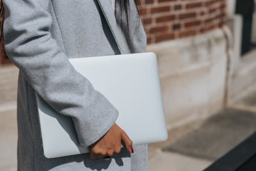
[[[135,145],[134,154],[122,149],[110,161],[89,154],[44,157],[34,93],[72,117],[82,146],[102,137],[118,111],[68,58],[145,52],[146,35],[129,2],[126,20],[123,10],[115,17],[112,0],[3,0],[5,50],[19,68],[18,170],[147,170],[146,144]]]

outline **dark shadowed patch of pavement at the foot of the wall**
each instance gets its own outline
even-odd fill
[[[198,129],[163,149],[166,152],[217,160],[252,135],[256,131],[255,123],[256,114],[253,112],[223,109],[206,119]]]

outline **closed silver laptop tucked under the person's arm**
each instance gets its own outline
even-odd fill
[[[116,123],[133,144],[167,139],[156,55],[152,52],[69,59],[119,111]],[[47,158],[88,153],[79,146],[72,119],[36,94],[42,145]],[[127,108],[129,104],[129,108]]]

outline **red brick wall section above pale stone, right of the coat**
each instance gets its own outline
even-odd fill
[[[147,43],[202,34],[222,27],[226,0],[140,0]]]

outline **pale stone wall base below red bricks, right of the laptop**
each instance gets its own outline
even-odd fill
[[[227,68],[221,29],[149,45],[158,56],[168,127],[202,119],[223,107]]]

